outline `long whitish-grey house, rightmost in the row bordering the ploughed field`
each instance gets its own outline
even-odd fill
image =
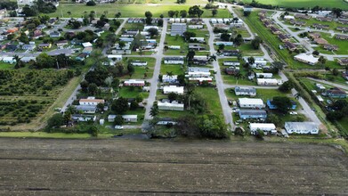
[[[287,134],[319,134],[319,125],[314,122],[286,122]]]

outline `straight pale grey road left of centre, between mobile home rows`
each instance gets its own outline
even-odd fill
[[[155,68],[153,70],[153,77],[150,79],[150,94],[148,98],[148,103],[145,107],[145,118],[144,119],[151,119],[152,117],[150,116],[150,110],[153,105],[153,102],[156,101],[156,93],[158,89],[158,75],[159,75],[159,70],[161,69],[161,63],[162,63],[162,58],[163,58],[163,49],[165,47],[165,40],[166,40],[166,27],[167,27],[167,20],[164,19],[163,21],[163,28],[161,31],[161,39],[159,41],[158,45],[158,53],[154,55],[150,55],[150,57],[156,58],[156,64]],[[142,56],[143,57],[143,56]]]

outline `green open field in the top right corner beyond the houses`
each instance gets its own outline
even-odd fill
[[[252,0],[241,0],[240,2],[251,3]],[[344,3],[344,0],[258,0],[260,4],[271,4],[280,7],[314,7],[319,5],[320,7],[339,7],[343,10],[348,10],[348,3]]]

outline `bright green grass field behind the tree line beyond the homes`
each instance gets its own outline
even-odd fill
[[[85,13],[94,11],[97,13],[96,17],[100,17],[104,12],[108,12],[108,17],[115,17],[116,12],[121,12],[121,17],[144,17],[144,13],[147,11],[152,12],[153,17],[159,17],[163,14],[168,16],[168,11],[188,11],[189,4],[97,4],[96,6],[86,6],[85,4],[60,4],[56,12],[48,14],[51,17],[61,17],[61,13],[64,17],[69,17],[67,12],[71,12],[70,17],[81,17]],[[212,12],[210,10],[204,10],[202,18],[212,18]],[[226,9],[219,9],[215,18],[227,18],[231,17],[231,13]]]

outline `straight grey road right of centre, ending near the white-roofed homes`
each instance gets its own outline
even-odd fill
[[[210,25],[208,19],[204,19],[204,21],[206,23],[206,29],[209,31],[209,35],[210,35],[209,41],[208,41],[208,44],[210,46],[210,54],[215,54],[216,51],[214,49],[213,28]],[[234,130],[233,118],[231,115],[232,110],[231,110],[229,103],[227,102],[226,94],[224,93],[223,78],[221,76],[221,71],[220,71],[220,66],[219,66],[218,61],[213,61],[213,66],[214,66],[214,70],[216,71],[215,80],[216,80],[216,86],[217,86],[217,91],[219,94],[220,102],[221,102],[221,105],[223,107],[223,116],[225,118],[225,122],[227,124],[231,125],[232,130]]]

